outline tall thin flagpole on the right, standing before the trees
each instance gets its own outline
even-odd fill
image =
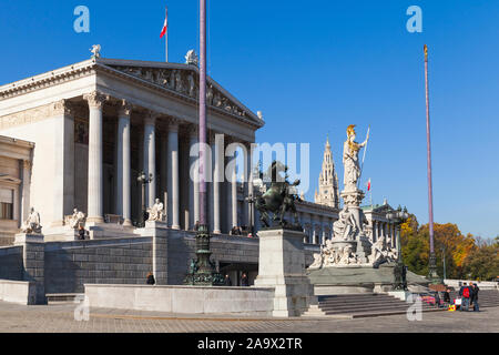
[[[430,253],[428,265],[428,277],[432,282],[438,282],[437,260],[434,245],[434,197],[431,184],[431,145],[430,145],[430,123],[429,123],[429,84],[428,84],[428,47],[425,44],[425,89],[426,89],[426,148],[427,148],[427,178],[428,178],[428,227],[430,237]]]

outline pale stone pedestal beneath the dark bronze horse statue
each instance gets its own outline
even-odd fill
[[[299,316],[316,304],[305,275],[304,233],[283,229],[263,230],[259,236],[258,276],[255,286],[275,287],[274,316]]]

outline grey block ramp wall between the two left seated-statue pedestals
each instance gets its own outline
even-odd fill
[[[82,293],[83,284],[144,284],[152,237],[45,243],[45,293]]]

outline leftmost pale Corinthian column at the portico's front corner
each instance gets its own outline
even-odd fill
[[[89,102],[89,193],[88,222],[104,222],[102,181],[102,106],[106,98],[100,92],[83,95]]]

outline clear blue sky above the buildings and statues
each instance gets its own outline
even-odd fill
[[[197,49],[198,3],[2,1],[0,84],[88,59],[164,60],[159,39],[169,6],[170,61]],[[90,33],[73,10],[90,9]],[[406,10],[422,9],[422,33]],[[428,221],[422,44],[430,52],[434,210],[464,233],[499,234],[499,2],[208,1],[210,74],[266,125],[258,142],[309,142],[313,199],[329,133],[343,180],[345,130],[371,125],[364,176],[384,197]]]

